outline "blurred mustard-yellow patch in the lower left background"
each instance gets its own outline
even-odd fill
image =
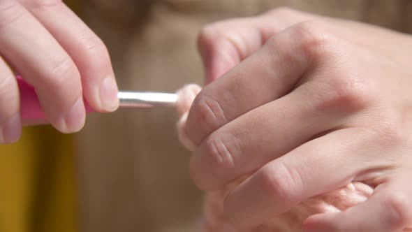
[[[78,231],[76,202],[71,136],[36,126],[0,145],[1,232]]]

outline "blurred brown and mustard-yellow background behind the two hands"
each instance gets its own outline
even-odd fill
[[[203,25],[289,6],[411,33],[410,0],[68,0],[100,36],[120,89],[203,82]],[[373,39],[373,38],[371,38]],[[26,128],[0,146],[0,231],[195,231],[202,194],[171,109],[92,114],[73,136]]]

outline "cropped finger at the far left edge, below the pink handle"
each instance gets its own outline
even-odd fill
[[[15,143],[21,131],[19,89],[13,72],[0,57],[0,144]]]

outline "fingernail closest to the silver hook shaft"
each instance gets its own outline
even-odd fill
[[[103,109],[112,112],[119,107],[117,92],[118,89],[115,78],[109,76],[101,82],[100,101]]]

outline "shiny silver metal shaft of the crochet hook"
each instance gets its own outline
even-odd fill
[[[120,107],[126,108],[175,107],[177,101],[177,94],[161,92],[120,91],[117,96]]]

